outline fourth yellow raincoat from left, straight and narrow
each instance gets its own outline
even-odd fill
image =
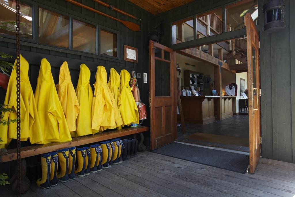
[[[76,133],[76,136],[92,134],[91,109],[93,102],[93,91],[91,89],[89,79],[89,68],[85,64],[81,64],[78,84],[76,87],[76,95],[80,104],[80,111],[76,121],[76,132],[71,132],[72,136],[74,133]]]

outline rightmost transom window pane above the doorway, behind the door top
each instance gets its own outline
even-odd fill
[[[244,16],[250,13],[253,21],[258,24],[258,0],[242,0],[227,5],[226,25],[227,32],[244,28]]]

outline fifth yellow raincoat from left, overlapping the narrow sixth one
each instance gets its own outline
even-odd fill
[[[92,129],[104,131],[122,124],[116,113],[116,102],[107,85],[107,74],[104,66],[98,66],[95,75],[94,99],[92,104]],[[121,121],[121,122],[120,122]],[[121,123],[121,124],[120,124]],[[97,131],[96,131],[97,132]]]

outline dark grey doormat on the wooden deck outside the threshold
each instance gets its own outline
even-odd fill
[[[243,174],[246,173],[249,165],[249,156],[245,154],[186,145],[177,142],[167,144],[152,152]]]

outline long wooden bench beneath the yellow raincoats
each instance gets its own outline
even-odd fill
[[[81,146],[85,144],[96,143],[108,139],[119,138],[122,136],[132,135],[149,131],[147,126],[138,126],[132,128],[124,128],[120,130],[104,131],[94,135],[73,138],[72,141],[67,142],[52,142],[48,144],[37,144],[32,146],[25,146],[21,148],[21,158],[31,157],[43,153],[53,152],[59,149],[68,148],[71,146]],[[17,159],[17,149],[9,149],[7,152],[0,152],[0,162],[9,162]]]

